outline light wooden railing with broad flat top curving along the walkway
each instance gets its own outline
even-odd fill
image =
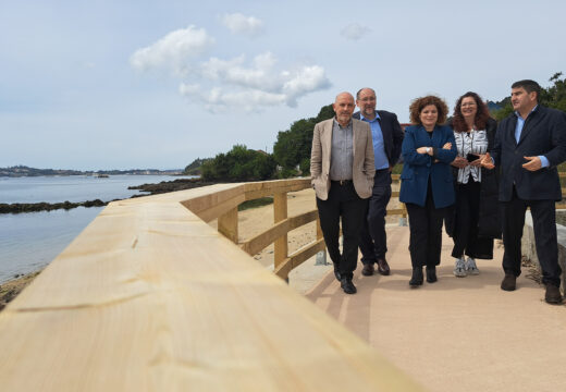
[[[302,186],[219,184],[111,203],[0,314],[2,390],[419,390],[205,223]],[[286,258],[281,266],[300,259]]]

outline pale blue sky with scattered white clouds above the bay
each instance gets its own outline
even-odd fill
[[[566,72],[566,2],[0,0],[0,167],[179,169],[336,94],[501,100]]]

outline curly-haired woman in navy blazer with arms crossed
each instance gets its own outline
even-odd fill
[[[409,108],[414,124],[405,128],[402,156],[399,201],[409,213],[409,252],[413,277],[409,285],[434,283],[442,247],[444,210],[454,204],[454,185],[450,163],[456,158],[456,143],[446,121],[448,107],[434,96],[417,98]]]

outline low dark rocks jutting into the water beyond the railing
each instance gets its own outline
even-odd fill
[[[143,195],[134,195],[134,197],[142,197],[148,195],[157,195],[168,192],[175,191],[184,191],[192,189],[199,186],[213,185],[213,182],[205,182],[200,179],[177,179],[173,181],[162,181],[159,184],[143,184],[137,186],[128,186],[128,189],[138,189],[140,192],[147,192],[147,194]],[[38,211],[52,211],[57,209],[70,210],[77,207],[103,207],[111,201],[116,201],[120,199],[102,201],[100,199],[81,201],[81,203],[14,203],[14,204],[4,204],[0,203],[0,213],[24,213],[24,212],[38,212]]]

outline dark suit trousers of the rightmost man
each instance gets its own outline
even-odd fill
[[[515,187],[510,201],[502,203],[503,212],[503,270],[505,273],[520,275],[520,241],[525,225],[525,211],[531,209],[537,255],[542,269],[542,282],[561,286],[558,266],[558,244],[556,240],[556,210],[554,200],[522,200],[517,197]]]

